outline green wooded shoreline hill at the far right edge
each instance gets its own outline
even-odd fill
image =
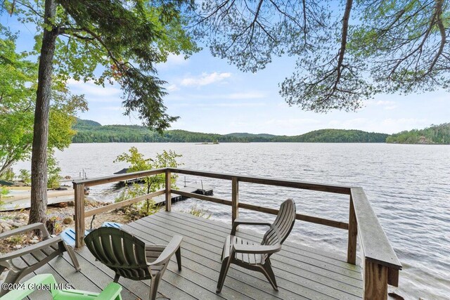
[[[386,143],[399,144],[450,144],[450,123],[431,125],[425,129],[413,129],[392,134]]]

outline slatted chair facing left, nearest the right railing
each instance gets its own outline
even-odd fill
[[[295,214],[295,202],[292,199],[288,199],[281,204],[278,215],[272,224],[266,221],[234,220],[231,235],[226,237],[224,249],[222,250],[222,266],[216,292],[221,292],[231,263],[263,273],[272,287],[278,290],[275,274],[271,267],[270,256],[281,250],[281,244],[288,237],[290,230],[293,229]],[[262,225],[270,228],[264,234],[261,244],[257,244],[236,236],[236,229],[240,225]]]

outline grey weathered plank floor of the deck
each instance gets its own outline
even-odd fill
[[[272,289],[264,275],[231,265],[221,294],[216,294],[221,249],[231,225],[162,211],[129,223],[123,229],[157,244],[167,244],[175,234],[184,236],[181,244],[183,270],[179,272],[176,263],[172,262],[159,288],[160,294],[171,299],[361,299],[363,294],[359,266],[323,250],[292,242],[285,242],[283,250],[271,259],[278,292]],[[259,235],[249,231],[240,231],[238,235],[260,240]],[[113,280],[113,272],[94,261],[86,247],[77,251],[77,256],[82,268],[79,273],[70,265],[67,254],[53,259],[36,273],[53,273],[58,282],[93,292]],[[120,284],[124,287],[123,299],[148,299],[150,282],[121,278]],[[31,299],[49,299],[44,294],[35,292]]]

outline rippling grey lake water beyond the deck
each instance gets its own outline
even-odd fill
[[[183,155],[185,168],[229,174],[283,178],[295,181],[361,186],[366,191],[392,246],[404,267],[397,294],[406,299],[450,299],[450,146],[346,143],[98,143],[72,144],[57,152],[62,175],[89,178],[108,176],[126,164],[114,164],[117,155],[136,146],[146,157],[162,150]],[[29,163],[28,163],[29,164]],[[29,169],[27,163],[15,170]],[[179,185],[184,184],[184,176]],[[214,187],[214,195],[231,200],[231,182],[186,176],[186,181]],[[98,200],[112,201],[111,185],[91,189]],[[240,202],[278,207],[288,197],[297,212],[347,221],[345,195],[240,183]],[[228,206],[186,200],[174,209],[194,203],[211,218],[231,222]],[[266,218],[254,211],[240,216]],[[347,230],[297,221],[290,240],[333,252],[347,251]]]

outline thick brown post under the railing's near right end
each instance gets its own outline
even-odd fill
[[[364,300],[387,299],[387,266],[364,259]]]

